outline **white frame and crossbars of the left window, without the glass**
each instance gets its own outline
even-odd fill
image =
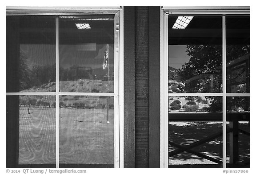
[[[114,15],[114,93],[59,92],[59,15]],[[56,92],[6,93],[6,96],[60,95],[114,97],[114,167],[124,168],[124,10],[122,6],[6,6],[6,16],[51,15],[56,19]],[[8,67],[7,67],[8,68]],[[56,168],[59,168],[59,109],[56,109]]]

